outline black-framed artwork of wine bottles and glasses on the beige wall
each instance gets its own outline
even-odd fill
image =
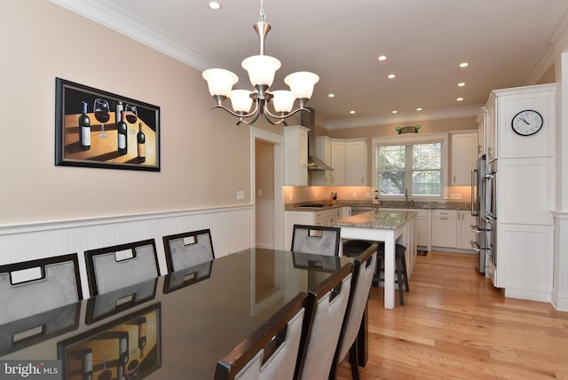
[[[55,78],[55,164],[160,171],[160,107]]]

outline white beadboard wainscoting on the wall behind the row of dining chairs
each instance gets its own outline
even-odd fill
[[[252,205],[246,205],[3,226],[0,265],[77,252],[83,295],[87,297],[85,250],[154,238],[161,273],[166,273],[162,236],[209,228],[215,256],[223,257],[254,245],[253,210]]]

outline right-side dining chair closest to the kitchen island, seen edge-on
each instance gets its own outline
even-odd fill
[[[375,276],[377,249],[378,245],[374,243],[361,253],[359,257],[355,258],[351,295],[331,366],[329,377],[331,379],[335,379],[337,367],[339,367],[339,364],[345,358],[347,352],[349,352],[351,376],[353,376],[354,380],[359,380],[358,335],[361,322],[363,321],[363,314],[367,308],[373,277]]]

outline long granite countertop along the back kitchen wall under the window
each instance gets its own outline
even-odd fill
[[[328,204],[329,201],[312,201],[312,202],[299,202],[299,203],[286,203],[286,211],[318,211],[329,210],[337,207],[374,207],[378,209],[430,209],[430,210],[471,210],[471,202],[444,202],[444,201],[414,201],[412,204],[406,206],[405,201],[383,201],[380,205],[375,205],[371,201],[337,201],[335,205],[327,205],[319,209],[303,209],[298,208],[303,204]]]

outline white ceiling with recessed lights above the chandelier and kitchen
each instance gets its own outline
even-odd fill
[[[262,0],[220,0],[218,11],[208,0],[51,1],[199,70],[229,69],[240,77],[234,88],[250,89],[241,60],[258,54]],[[318,74],[307,106],[342,128],[475,115],[493,89],[536,83],[568,1],[264,0],[264,13],[264,53],[282,63],[272,89],[296,71]]]

